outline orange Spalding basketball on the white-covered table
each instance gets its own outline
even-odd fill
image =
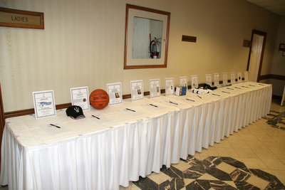
[[[90,94],[89,100],[92,107],[96,109],[103,109],[109,103],[109,95],[105,92],[105,90],[97,89]]]

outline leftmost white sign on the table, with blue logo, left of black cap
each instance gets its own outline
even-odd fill
[[[53,90],[33,92],[33,107],[36,119],[56,116]]]

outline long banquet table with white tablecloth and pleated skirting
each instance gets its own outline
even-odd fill
[[[247,82],[199,96],[127,99],[84,112],[83,120],[72,120],[65,110],[41,120],[34,115],[6,119],[0,184],[48,190],[128,186],[264,117],[271,93],[271,85]]]

